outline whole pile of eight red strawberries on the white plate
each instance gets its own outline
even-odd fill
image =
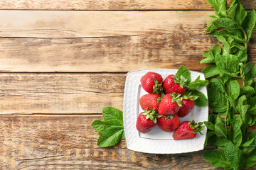
[[[164,79],[155,72],[146,73],[142,79],[142,88],[149,94],[139,99],[144,110],[137,118],[139,132],[150,132],[156,125],[165,132],[174,132],[174,140],[191,139],[203,130],[203,123],[180,122],[180,118],[191,113],[198,96],[186,92],[186,79],[181,75],[169,75]],[[181,124],[180,124],[181,123]]]

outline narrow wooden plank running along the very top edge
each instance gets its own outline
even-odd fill
[[[228,1],[230,3],[230,0]],[[256,1],[241,1],[246,9],[256,8]],[[61,5],[60,5],[61,4]],[[212,10],[205,0],[6,0],[0,2],[1,9],[29,10]]]

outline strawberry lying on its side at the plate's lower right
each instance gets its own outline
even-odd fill
[[[201,131],[204,130],[204,126],[201,125],[203,125],[203,123],[195,123],[194,120],[181,123],[178,129],[174,132],[174,140],[186,140],[194,138],[196,137],[197,132],[203,135]]]

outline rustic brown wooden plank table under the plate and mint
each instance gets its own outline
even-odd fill
[[[256,0],[242,4],[256,8]],[[217,42],[204,33],[214,13],[206,0],[9,0],[0,8],[0,169],[218,169],[203,159],[213,147],[144,154],[123,140],[102,149],[90,125],[104,106],[122,110],[127,72],[205,67],[201,53]]]

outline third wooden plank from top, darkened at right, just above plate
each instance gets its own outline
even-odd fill
[[[130,72],[137,69],[201,71],[201,55],[217,42],[209,35],[174,33],[116,38],[0,38],[0,72]],[[248,55],[256,63],[256,41]]]

